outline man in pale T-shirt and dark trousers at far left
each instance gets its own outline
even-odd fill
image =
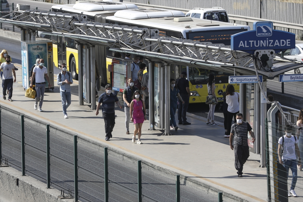
[[[6,90],[8,90],[8,101],[12,100],[12,94],[13,94],[13,83],[16,82],[16,73],[15,73],[15,66],[13,63],[11,63],[11,56],[6,55],[5,56],[6,62],[3,62],[0,66],[0,71],[3,70],[2,75],[2,94],[3,99],[6,99]],[[13,79],[14,74],[14,79]]]

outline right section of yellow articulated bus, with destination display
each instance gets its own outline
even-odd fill
[[[193,41],[211,42],[213,44],[231,44],[231,35],[250,30],[246,25],[233,25],[227,22],[185,17],[182,12],[167,9],[132,9],[117,11],[106,17],[106,23],[136,26],[139,28],[158,29],[163,37],[190,39]],[[224,72],[211,71],[202,68],[175,65],[171,68],[171,78],[178,79],[182,71],[187,71],[190,103],[206,101],[208,75],[215,75],[216,96],[223,101],[223,92],[228,85],[228,76]],[[239,85],[234,85],[239,91]]]

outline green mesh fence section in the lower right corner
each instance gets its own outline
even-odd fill
[[[287,171],[285,167],[279,163],[278,157],[278,141],[282,135],[285,135],[285,126],[270,121],[265,121],[266,129],[266,159],[267,159],[267,184],[268,184],[268,201],[276,202],[290,202],[303,201],[303,171],[297,168],[297,182],[295,185],[295,192],[297,197],[292,194],[288,196],[291,188],[293,174],[291,169]],[[296,137],[298,141],[298,148],[301,159],[303,159],[303,137],[299,136],[300,131],[293,128],[291,134]],[[285,138],[285,142],[286,142]],[[280,142],[281,143],[281,142]],[[281,144],[283,145],[283,144]],[[297,159],[302,164],[301,161]]]

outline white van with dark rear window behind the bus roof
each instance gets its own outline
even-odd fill
[[[221,7],[194,8],[185,14],[186,17],[229,22],[226,11]]]

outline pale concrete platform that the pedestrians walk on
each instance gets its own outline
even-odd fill
[[[21,65],[15,64],[15,66],[21,68]],[[16,74],[17,82],[13,85],[12,97],[14,101],[3,100],[1,93],[1,105],[101,141],[103,144],[158,166],[201,180],[242,199],[266,201],[266,168],[258,167],[260,156],[251,153],[244,165],[243,178],[238,178],[234,167],[234,151],[229,147],[229,139],[223,137],[222,123],[219,123],[219,126],[209,126],[205,124],[205,118],[188,113],[188,122],[191,122],[191,125],[179,125],[178,131],[172,131],[172,136],[161,136],[162,130],[148,131],[149,124],[146,121],[142,127],[143,144],[139,145],[132,143],[132,134],[125,134],[124,109],[121,110],[116,106],[117,117],[113,138],[105,141],[102,114],[96,116],[89,105],[78,105],[77,81],[72,85],[72,104],[67,110],[68,119],[64,119],[58,87],[54,91],[45,91],[42,106],[44,111],[39,112],[34,110],[34,100],[24,96],[21,69],[16,71]],[[2,92],[2,87],[0,89]],[[99,92],[99,95],[101,93]],[[122,100],[121,93],[118,95],[119,100]]]

